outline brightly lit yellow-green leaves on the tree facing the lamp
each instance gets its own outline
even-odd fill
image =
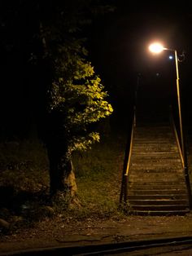
[[[56,67],[57,75],[52,83],[50,111],[57,109],[63,113],[64,127],[68,130],[68,152],[86,150],[99,135],[88,132],[89,124],[111,115],[113,109],[106,100],[107,92],[94,68],[80,55],[68,55],[68,63]],[[61,62],[61,60],[59,60]],[[62,70],[62,72],[61,72]]]

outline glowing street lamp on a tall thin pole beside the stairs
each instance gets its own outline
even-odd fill
[[[185,144],[183,138],[183,126],[182,126],[182,115],[181,115],[181,98],[180,98],[180,86],[179,86],[179,68],[178,68],[178,57],[177,50],[165,48],[159,42],[152,43],[149,46],[149,50],[155,54],[159,54],[162,51],[174,51],[175,54],[175,64],[176,64],[176,76],[177,76],[177,102],[178,102],[178,110],[179,110],[179,122],[180,122],[180,132],[181,132],[181,152],[183,157],[183,165],[186,167],[186,156],[185,156]]]

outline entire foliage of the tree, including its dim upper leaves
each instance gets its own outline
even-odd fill
[[[71,9],[70,9],[71,10]],[[72,11],[72,10],[71,10]],[[49,58],[53,78],[48,90],[48,111],[63,114],[63,129],[68,134],[68,153],[85,150],[99,140],[99,134],[90,125],[111,115],[113,109],[106,100],[107,92],[94,67],[87,60],[81,16],[82,8],[65,19],[62,12],[55,15],[55,23],[41,23],[44,58]],[[78,32],[78,33],[77,33]]]

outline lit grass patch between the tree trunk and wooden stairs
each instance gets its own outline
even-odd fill
[[[118,208],[124,136],[113,135],[74,158],[78,196],[85,212],[108,215]]]

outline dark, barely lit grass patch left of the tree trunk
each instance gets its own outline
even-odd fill
[[[28,140],[0,144],[0,187],[39,192],[49,183],[46,148]]]

